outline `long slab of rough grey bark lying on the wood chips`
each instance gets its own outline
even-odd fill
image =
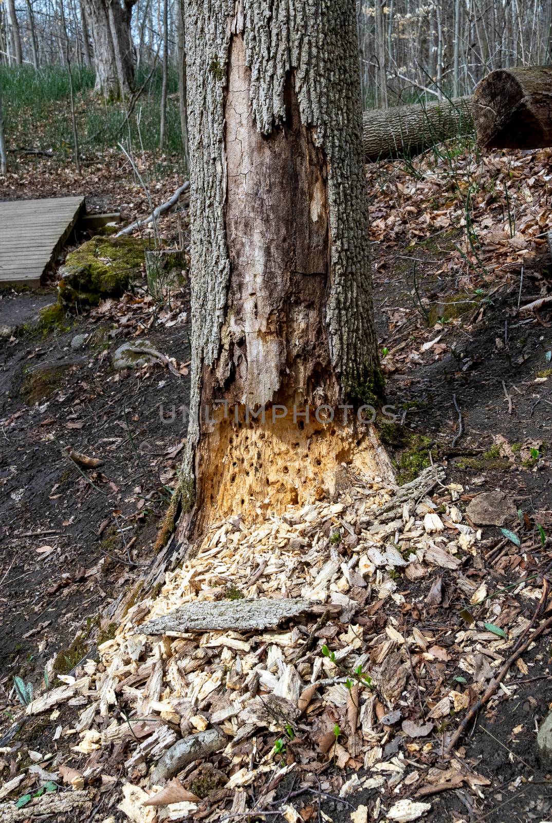
[[[186,603],[163,617],[137,626],[137,635],[166,635],[168,631],[257,631],[278,625],[289,617],[304,611],[326,610],[327,606],[305,600],[273,600],[259,597],[257,600],[216,600]]]

